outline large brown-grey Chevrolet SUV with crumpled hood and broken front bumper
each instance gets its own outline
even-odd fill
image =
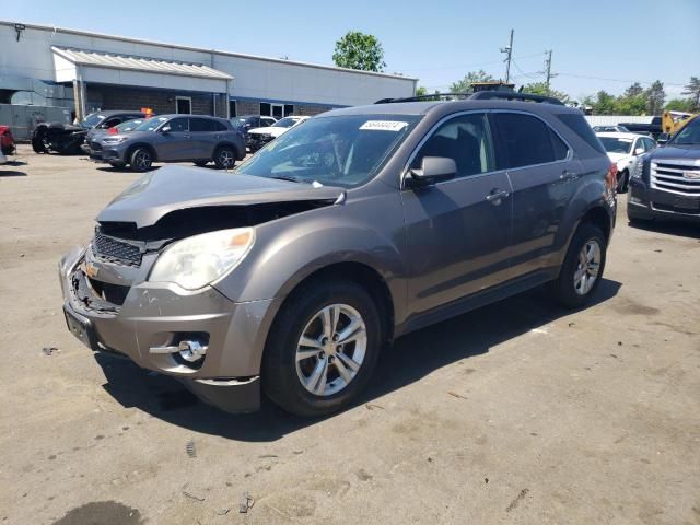
[[[261,392],[338,410],[395,338],[533,287],[585,305],[616,208],[580,112],[485,95],[329,112],[234,175],[191,172],[100,213],[60,262],[63,311],[91,349],[229,411]]]

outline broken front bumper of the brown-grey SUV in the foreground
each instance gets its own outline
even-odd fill
[[[112,265],[98,260],[90,247],[67,254],[59,273],[69,330],[93,351],[118,354],[177,378],[222,410],[257,410],[259,358],[276,301],[235,303],[212,287],[189,292],[150,283],[145,276],[151,264],[144,255],[141,268]],[[207,347],[198,362],[163,351],[191,338]]]

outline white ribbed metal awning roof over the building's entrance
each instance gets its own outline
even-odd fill
[[[117,55],[114,52],[90,51],[70,47],[51,46],[51,50],[77,66],[96,68],[127,69],[148,73],[179,74],[202,79],[232,80],[228,73],[210,68],[202,63],[180,62],[155,58],[137,57],[132,55]]]

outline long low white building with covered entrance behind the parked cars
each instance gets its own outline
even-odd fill
[[[417,79],[0,21],[0,104],[315,115],[411,96]]]

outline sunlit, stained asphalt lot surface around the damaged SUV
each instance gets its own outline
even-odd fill
[[[57,262],[137,175],[26,145],[16,161],[0,523],[700,524],[699,229],[632,229],[621,196],[595,305],[534,291],[399,339],[325,420],[230,416],[65,327]]]

